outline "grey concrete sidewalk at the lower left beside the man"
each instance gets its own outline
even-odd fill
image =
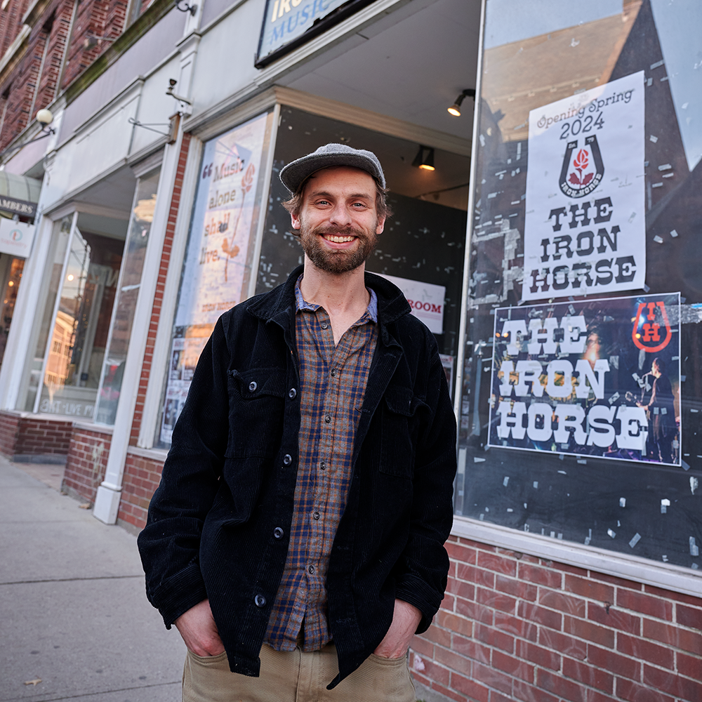
[[[178,702],[185,645],[135,536],[62,496],[62,467],[26,469],[0,457],[0,702]]]

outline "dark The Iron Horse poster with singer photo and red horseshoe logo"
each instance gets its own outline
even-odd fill
[[[495,310],[489,445],[680,465],[680,295]]]

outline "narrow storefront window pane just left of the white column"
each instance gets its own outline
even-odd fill
[[[112,313],[110,340],[102,366],[98,407],[95,412],[95,421],[102,424],[114,424],[114,417],[117,413],[124,363],[141,286],[146,246],[154,219],[159,173],[160,171],[140,178],[135,192],[135,204],[132,208],[129,233],[124,246],[119,293]]]

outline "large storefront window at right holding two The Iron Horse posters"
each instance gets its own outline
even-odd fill
[[[486,0],[456,515],[700,564],[701,22]]]

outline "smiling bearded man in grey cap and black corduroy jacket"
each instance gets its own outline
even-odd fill
[[[139,537],[147,595],[187,645],[185,700],[413,702],[406,652],[449,566],[444,371],[399,289],[365,273],[387,213],[376,156],[329,144],[280,177],[304,267],[202,352]]]

